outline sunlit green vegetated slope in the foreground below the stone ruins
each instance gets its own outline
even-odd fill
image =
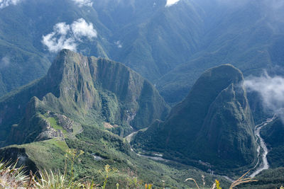
[[[225,186],[229,185],[228,181],[220,176],[210,176],[209,173],[190,166],[173,162],[165,162],[164,164],[137,156],[124,139],[96,127],[84,126],[84,131],[77,134],[76,139],[66,139],[66,142],[67,145],[60,139],[51,139],[21,146],[14,145],[1,149],[0,154],[7,154],[5,159],[10,159],[11,154],[15,154],[13,161],[16,161],[18,156],[28,156],[28,159],[35,163],[36,168],[42,171],[53,170],[53,173],[57,175],[59,171],[64,173],[66,149],[84,151],[84,154],[81,154],[73,164],[75,181],[82,181],[80,179],[84,178],[87,179],[86,181],[93,180],[96,181],[95,183],[103,185],[105,175],[102,176],[99,170],[110,165],[111,168],[117,168],[119,172],[109,174],[106,188],[112,188],[111,185],[116,188],[116,183],[119,183],[120,188],[124,188],[124,185],[128,185],[130,188],[142,183],[143,185],[153,183],[153,188],[161,188],[163,185],[169,188],[187,188],[188,186],[194,187],[194,185],[193,183],[185,183],[186,178],[195,178],[197,183],[202,185],[202,175],[206,182],[206,188],[212,185],[211,181],[214,179],[218,179]],[[25,150],[19,151],[19,149]],[[95,159],[94,156],[102,159]],[[28,166],[28,159],[21,161],[21,164]],[[46,159],[50,159],[50,161],[46,161]],[[69,163],[68,170],[71,167]],[[48,174],[50,174],[49,171]],[[68,174],[72,175],[70,171]]]

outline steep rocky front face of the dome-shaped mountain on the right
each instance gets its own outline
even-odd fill
[[[256,158],[253,126],[244,88],[230,84],[219,93],[204,118],[195,142],[197,158],[226,168],[253,163]],[[201,148],[207,150],[200,151]]]

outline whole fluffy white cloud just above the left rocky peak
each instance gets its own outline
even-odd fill
[[[92,23],[87,23],[83,18],[79,18],[71,25],[57,23],[53,26],[53,32],[43,35],[42,43],[50,52],[58,52],[62,49],[77,50],[77,45],[82,42],[82,37],[89,40],[97,38],[97,31]]]

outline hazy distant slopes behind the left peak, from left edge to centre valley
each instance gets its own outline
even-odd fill
[[[11,64],[0,69],[0,95],[45,75],[55,55],[48,53],[42,37],[60,22],[84,18],[92,23],[99,35],[78,42],[78,52],[124,62],[151,81],[197,50],[202,18],[192,3],[182,2],[182,10],[170,11],[164,1],[155,7],[151,0],[125,4],[99,1],[97,6],[79,7],[69,0],[32,0],[1,8],[0,61],[8,57]]]

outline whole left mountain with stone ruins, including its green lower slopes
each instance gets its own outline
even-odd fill
[[[216,178],[228,185],[220,176],[131,151],[122,137],[163,120],[169,108],[146,79],[109,59],[62,50],[46,76],[1,98],[0,110],[0,159],[18,159],[33,172],[62,171],[66,150],[78,149],[84,154],[74,162],[76,179],[89,176],[100,183],[105,165],[119,169],[109,176],[108,188],[137,177],[159,188],[187,188],[194,186],[184,182],[187,177],[202,175],[206,187]]]

